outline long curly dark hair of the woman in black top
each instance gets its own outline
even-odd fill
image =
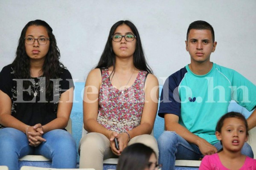
[[[16,51],[16,57],[12,62],[12,67],[15,70],[15,76],[18,79],[30,79],[30,60],[26,54],[25,48],[25,35],[29,26],[43,26],[46,28],[49,35],[49,51],[45,57],[44,65],[42,68],[42,73],[46,77],[46,97],[49,100],[52,95],[52,82],[49,79],[59,78],[62,69],[65,68],[64,65],[59,61],[60,51],[57,47],[57,42],[55,36],[52,34],[52,28],[43,20],[34,20],[26,24],[22,29],[20,34],[20,39],[18,42],[18,47]]]

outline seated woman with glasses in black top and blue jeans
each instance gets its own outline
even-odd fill
[[[76,142],[64,129],[74,85],[59,58],[52,28],[30,21],[15,60],[0,72],[0,165],[9,170],[28,154],[51,159],[55,168],[76,167]]]

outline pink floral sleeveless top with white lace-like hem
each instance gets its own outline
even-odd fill
[[[116,89],[109,80],[108,69],[102,69],[97,121],[105,128],[122,133],[140,125],[144,106],[146,71],[139,71],[131,87]]]

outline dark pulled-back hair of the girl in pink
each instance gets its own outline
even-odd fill
[[[246,121],[244,115],[242,115],[241,113],[238,113],[238,112],[229,112],[229,113],[224,114],[219,119],[219,121],[217,123],[216,132],[221,133],[221,128],[223,127],[224,120],[227,119],[227,118],[237,118],[237,119],[242,120],[244,122],[244,125],[245,125],[245,128],[246,128],[246,136],[249,136],[247,121]]]

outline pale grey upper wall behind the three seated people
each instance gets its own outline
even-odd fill
[[[0,0],[0,69],[12,62],[22,28],[30,20],[53,28],[61,61],[84,82],[105,46],[111,26],[131,20],[160,84],[190,62],[189,23],[205,20],[218,42],[211,60],[256,84],[256,0]]]

